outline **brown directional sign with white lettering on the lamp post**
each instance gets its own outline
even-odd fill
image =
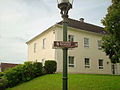
[[[75,48],[75,47],[78,47],[77,42],[54,41],[54,48]]]

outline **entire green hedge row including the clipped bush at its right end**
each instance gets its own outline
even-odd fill
[[[56,68],[56,61],[51,60],[45,61],[44,68],[40,62],[25,62],[24,64],[5,70],[4,73],[0,73],[0,76],[4,79],[4,83],[0,84],[0,89],[4,88],[4,86],[6,88],[14,87],[46,73],[55,73]]]

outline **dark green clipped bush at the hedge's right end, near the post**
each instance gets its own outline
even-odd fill
[[[56,61],[52,61],[52,60],[45,61],[45,70],[47,74],[55,73],[56,68],[57,68]]]

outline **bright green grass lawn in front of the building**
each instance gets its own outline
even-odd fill
[[[44,75],[7,90],[62,90],[62,74]],[[68,90],[120,90],[120,76],[69,74]]]

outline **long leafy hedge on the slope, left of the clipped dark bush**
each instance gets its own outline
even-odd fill
[[[42,63],[25,62],[23,65],[6,70],[4,72],[4,80],[7,87],[13,87],[40,75],[42,75]]]

